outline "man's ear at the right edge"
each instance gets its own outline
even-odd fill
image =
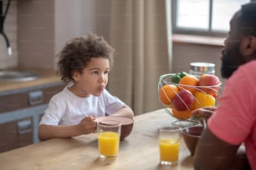
[[[253,37],[253,36],[243,37],[240,44],[241,54],[248,56],[253,54],[255,50],[256,50],[256,37]]]

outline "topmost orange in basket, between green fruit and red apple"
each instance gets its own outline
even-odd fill
[[[196,86],[198,84],[199,80],[197,79],[197,77],[193,76],[193,75],[186,75],[184,77],[182,77],[182,79],[180,80],[179,84],[181,86],[179,86],[181,89],[187,89],[192,93],[195,93],[197,91]],[[184,86],[183,86],[184,85]],[[192,86],[192,87],[190,87]]]

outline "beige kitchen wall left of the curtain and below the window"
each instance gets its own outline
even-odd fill
[[[7,55],[6,44],[0,37],[0,68],[54,68],[56,55],[65,42],[86,32],[97,32],[109,41],[109,24],[107,0],[12,0],[5,29],[13,56]],[[214,62],[220,77],[221,48],[174,42],[170,72],[188,72],[190,62]]]

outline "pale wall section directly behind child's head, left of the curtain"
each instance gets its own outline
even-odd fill
[[[110,1],[108,0],[55,0],[54,1],[54,54],[73,37],[95,32],[109,41]]]

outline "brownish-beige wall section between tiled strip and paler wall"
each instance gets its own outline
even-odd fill
[[[54,47],[54,0],[18,0],[18,66],[54,68]]]

